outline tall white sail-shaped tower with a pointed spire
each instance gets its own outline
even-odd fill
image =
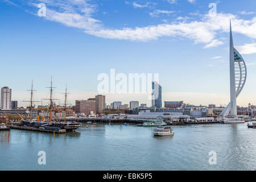
[[[234,48],[232,27],[230,20],[230,45],[229,45],[229,71],[230,71],[230,102],[222,111],[221,116],[237,116],[237,97],[241,93],[246,82],[247,71],[245,61],[240,53]]]

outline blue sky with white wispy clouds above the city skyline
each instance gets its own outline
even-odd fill
[[[255,7],[254,0],[0,0],[0,86],[26,106],[31,80],[41,102],[52,76],[54,96],[63,102],[67,85],[75,104],[99,94],[98,75],[115,69],[127,77],[158,73],[163,101],[227,105],[231,19],[247,67],[237,104],[256,105]],[[148,94],[105,95],[107,104],[151,105]]]

